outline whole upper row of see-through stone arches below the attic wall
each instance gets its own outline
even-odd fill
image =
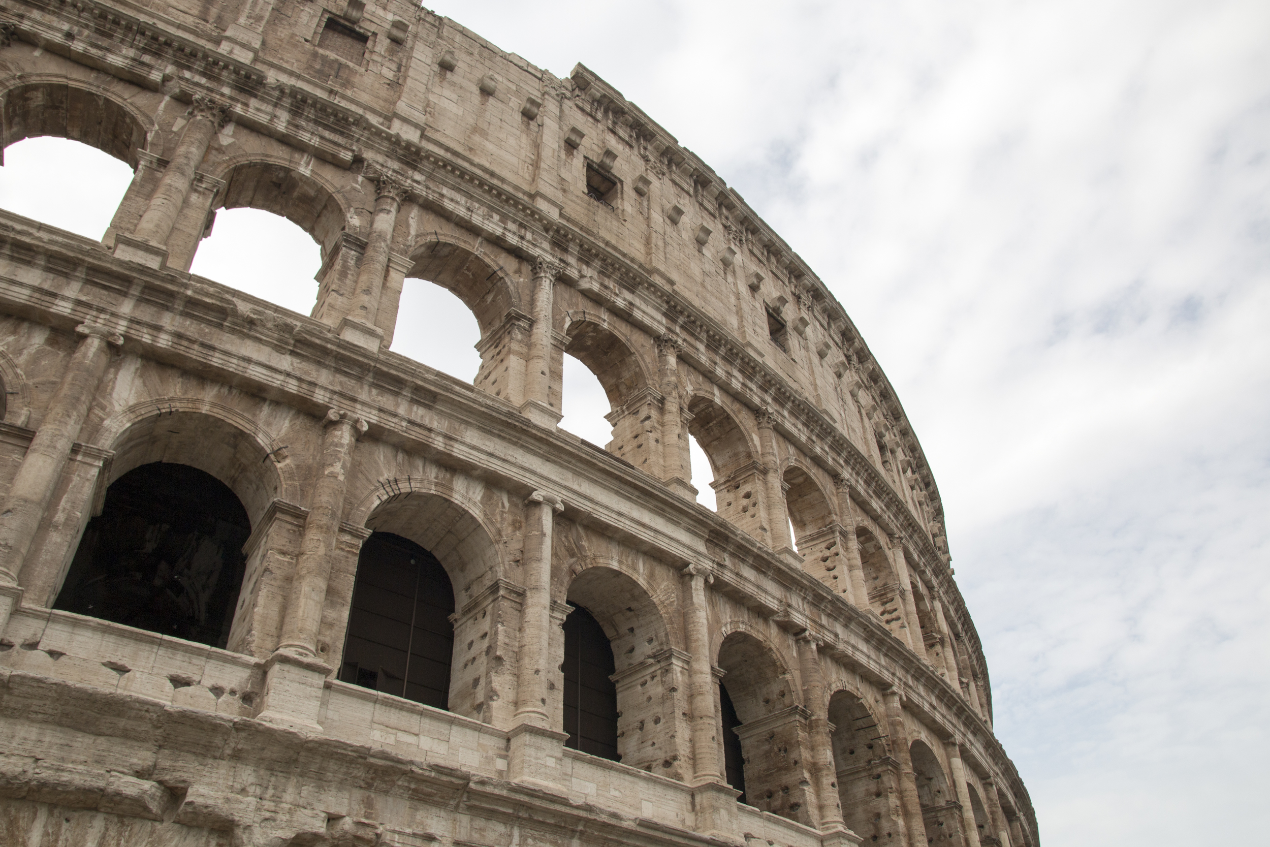
[[[161,171],[161,161],[151,150],[170,155],[175,138],[160,132],[159,124],[144,109],[119,100],[114,93],[81,88],[65,80],[24,81],[6,90],[3,103],[6,145],[36,136],[61,136],[93,145],[136,169],[107,240],[113,234],[130,231],[140,216],[140,199],[149,194]],[[210,216],[199,213],[190,217],[183,212],[184,217],[178,218],[168,245],[169,263],[189,267],[198,241],[210,231],[216,210],[268,212],[291,221],[318,243],[321,269],[312,316],[323,319],[324,311],[338,312],[337,301],[347,300],[349,293],[342,288],[344,283],[340,281],[347,282],[358,260],[354,234],[364,231],[367,207],[373,206],[367,188],[361,184],[364,180],[340,188],[324,177],[311,160],[279,159],[260,150],[222,154],[203,177],[202,183],[196,180],[192,190],[207,194],[198,208],[206,208]],[[418,217],[423,215],[419,210],[411,215],[417,217],[403,226],[414,231],[424,218]],[[462,302],[475,317],[480,337],[476,348],[481,357],[475,378],[478,387],[513,404],[519,403],[525,397],[521,373],[526,353],[523,344],[518,345],[517,330],[508,324],[507,316],[526,310],[526,296],[521,293],[516,278],[518,274],[523,279],[530,273],[525,268],[504,268],[479,243],[465,240],[461,234],[447,231],[442,235],[439,229],[433,229],[428,235],[424,227],[410,243],[410,253],[390,274],[391,291],[373,316],[386,340],[392,342],[396,335],[406,339],[420,335],[415,331],[396,333],[404,282],[418,278],[436,283]],[[767,467],[771,457],[765,456],[762,444],[756,443],[752,413],[714,387],[682,386],[686,392],[685,433],[676,443],[671,443],[668,437],[662,443],[659,436],[665,436],[669,425],[665,420],[657,420],[658,406],[649,400],[660,375],[645,361],[646,350],[641,352],[630,330],[602,310],[596,314],[569,309],[570,305],[564,303],[558,317],[563,323],[563,334],[555,356],[558,359],[565,356],[574,358],[597,378],[610,408],[606,418],[612,434],[607,444],[611,452],[663,479],[673,475],[676,467],[687,469],[691,477],[693,451],[688,446],[697,447],[709,465],[709,488],[720,516],[773,546],[787,524],[789,538],[803,555],[809,571],[838,593],[848,596],[857,606],[871,608],[893,630],[919,629],[908,639],[919,655],[930,659],[928,646],[932,650],[951,649],[946,627],[932,610],[935,601],[930,589],[907,579],[904,569],[888,560],[885,545],[874,532],[848,527],[843,537],[836,531],[836,527],[848,522],[839,514],[836,498],[818,479],[823,471],[800,466],[791,458],[777,458],[777,466],[782,469],[777,488],[784,497],[777,495],[772,502],[771,486],[763,479],[765,474],[772,472]],[[560,373],[563,368],[554,366],[552,371]],[[673,378],[678,390],[681,375],[676,372]],[[563,391],[556,389],[558,405],[561,395]],[[698,488],[706,486],[698,483]],[[842,551],[843,544],[859,549],[867,596],[852,596],[847,570],[842,563],[836,563],[836,554]],[[907,618],[906,593],[912,596],[916,607]],[[933,639],[933,643],[927,644],[927,639]]]

